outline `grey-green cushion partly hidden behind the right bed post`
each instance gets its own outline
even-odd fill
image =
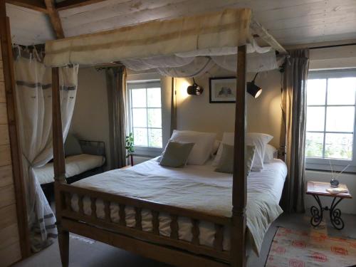
[[[223,149],[219,163],[215,169],[215,172],[224,172],[232,174],[234,172],[234,146],[222,144]],[[253,156],[255,155],[255,146],[246,146],[246,165],[247,174],[251,172],[251,165],[253,161]]]

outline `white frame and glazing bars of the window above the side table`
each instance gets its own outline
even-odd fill
[[[308,73],[308,80],[311,79],[323,79],[323,78],[347,78],[347,77],[356,77],[356,68],[347,68],[347,69],[337,69],[337,70],[310,70]],[[307,85],[308,86],[308,85]],[[326,102],[326,99],[328,97],[328,83],[326,85],[326,92],[325,92],[325,105],[320,105],[320,106],[337,106],[337,105],[328,105]],[[307,89],[308,90],[308,89]],[[310,105],[313,106],[313,105]],[[317,105],[315,105],[317,106]],[[341,106],[341,105],[339,105]],[[347,105],[345,105],[347,106]],[[308,107],[308,104],[306,104],[306,107]],[[325,111],[326,112],[326,111]],[[325,113],[325,122],[324,122],[324,140],[325,140],[325,132],[326,131],[326,113]],[[305,116],[305,120],[307,120],[308,115]],[[313,131],[307,131],[306,130],[306,124],[305,124],[305,134],[307,132],[313,132]],[[319,132],[319,131],[316,131]],[[342,132],[338,132],[342,133]],[[349,132],[347,132],[349,133]],[[325,145],[325,141],[324,144]],[[325,148],[324,148],[325,150]],[[331,164],[333,164],[333,168],[335,171],[340,172],[344,167],[347,166],[347,164],[350,164],[350,166],[346,169],[345,172],[356,172],[356,93],[355,93],[355,115],[354,115],[354,127],[353,127],[353,136],[352,136],[352,159],[330,159]],[[318,157],[307,157],[305,156],[305,168],[306,169],[316,169],[316,170],[327,170],[330,171],[330,162],[329,159],[325,158],[318,158]]]

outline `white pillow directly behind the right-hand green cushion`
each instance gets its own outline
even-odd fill
[[[263,157],[266,153],[266,145],[268,142],[272,140],[273,136],[256,133],[256,132],[248,132],[246,135],[246,145],[254,145],[255,148],[255,156],[253,157],[251,171],[259,172],[263,169]],[[234,132],[224,132],[223,140],[221,144],[234,145]],[[213,165],[217,166],[221,153],[222,153],[222,145],[220,145],[218,152],[216,153],[216,157],[214,159]]]

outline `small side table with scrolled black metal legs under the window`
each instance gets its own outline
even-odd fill
[[[340,184],[339,187],[347,189],[346,184]],[[340,203],[340,201],[342,201],[342,199],[352,199],[352,196],[350,192],[331,194],[326,191],[328,188],[330,188],[330,183],[327,182],[308,182],[306,194],[311,194],[318,203],[318,206],[312,206],[310,208],[310,213],[312,215],[310,224],[318,226],[321,221],[323,221],[323,211],[329,211],[331,224],[333,224],[335,229],[341,230],[344,228],[345,224],[341,219],[341,211],[340,209],[336,209],[336,206]],[[328,206],[322,206],[319,196],[334,198],[330,208]]]

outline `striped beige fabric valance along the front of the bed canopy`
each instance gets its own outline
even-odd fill
[[[46,66],[93,65],[197,51],[211,56],[246,44],[250,9],[226,9],[46,42]]]

